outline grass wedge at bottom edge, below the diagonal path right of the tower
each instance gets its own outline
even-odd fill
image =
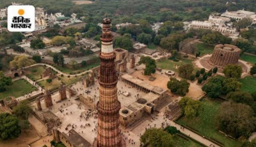
[[[175,135],[173,137],[173,140],[174,140],[174,145],[177,147],[204,147],[192,140],[187,141],[178,135]]]

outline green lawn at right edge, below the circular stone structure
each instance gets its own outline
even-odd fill
[[[247,76],[239,80],[242,82],[241,90],[253,93],[256,91],[256,77]]]

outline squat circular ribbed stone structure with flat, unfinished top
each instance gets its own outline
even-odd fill
[[[235,45],[218,44],[208,60],[211,66],[224,68],[227,65],[236,65],[240,57],[241,50]]]

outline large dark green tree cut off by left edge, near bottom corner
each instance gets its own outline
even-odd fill
[[[9,113],[0,114],[0,139],[14,139],[21,134],[21,127],[18,124],[17,117]]]

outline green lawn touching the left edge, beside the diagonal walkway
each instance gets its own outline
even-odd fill
[[[8,96],[20,97],[24,94],[30,93],[37,88],[32,86],[27,80],[20,79],[13,82],[13,85],[7,86],[6,91],[0,93],[0,99]]]

